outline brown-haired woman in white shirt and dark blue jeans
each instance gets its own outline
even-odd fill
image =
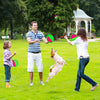
[[[68,40],[67,36],[64,37],[69,44],[71,45],[77,44],[77,55],[80,60],[79,60],[79,69],[77,72],[77,82],[76,82],[75,91],[79,91],[80,89],[81,78],[83,78],[84,80],[86,80],[88,83],[92,85],[92,88],[90,90],[93,91],[96,87],[98,87],[98,84],[84,74],[85,67],[89,62],[89,54],[87,50],[88,39],[87,39],[85,29],[80,28],[78,30],[77,36],[78,38],[72,42]]]

